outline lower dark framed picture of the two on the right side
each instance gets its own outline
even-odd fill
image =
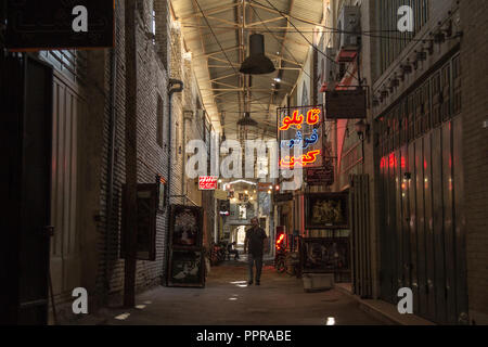
[[[349,237],[301,239],[304,273],[343,272],[350,270]]]

